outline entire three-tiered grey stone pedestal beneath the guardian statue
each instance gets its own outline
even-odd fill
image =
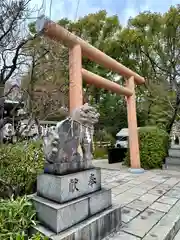
[[[51,233],[50,239],[100,240],[121,225],[120,207],[112,207],[111,190],[101,188],[99,168],[63,176],[42,174],[32,200],[42,224],[34,230],[48,237]],[[77,237],[84,231],[86,237]]]

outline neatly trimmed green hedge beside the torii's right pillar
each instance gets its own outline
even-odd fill
[[[157,127],[142,127],[139,129],[139,149],[141,167],[144,169],[161,168],[167,156],[169,143],[168,134]],[[129,152],[125,164],[130,166]]]

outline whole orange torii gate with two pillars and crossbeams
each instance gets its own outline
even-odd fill
[[[112,59],[105,53],[93,47],[86,41],[67,31],[45,16],[38,18],[36,22],[37,32],[44,36],[63,43],[69,48],[69,110],[72,111],[83,104],[82,79],[88,84],[110,90],[114,93],[126,96],[130,162],[132,171],[141,171],[139,143],[136,117],[135,83],[143,84],[144,78]],[[126,77],[126,87],[102,78],[82,68],[82,56],[100,64],[110,70]]]

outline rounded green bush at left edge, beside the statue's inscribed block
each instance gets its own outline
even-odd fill
[[[0,147],[0,197],[31,194],[43,171],[41,142],[21,142]]]

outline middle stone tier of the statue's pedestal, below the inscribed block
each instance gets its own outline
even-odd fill
[[[82,222],[111,206],[111,190],[103,189],[68,203],[58,204],[37,195],[32,197],[37,217],[55,233]]]

